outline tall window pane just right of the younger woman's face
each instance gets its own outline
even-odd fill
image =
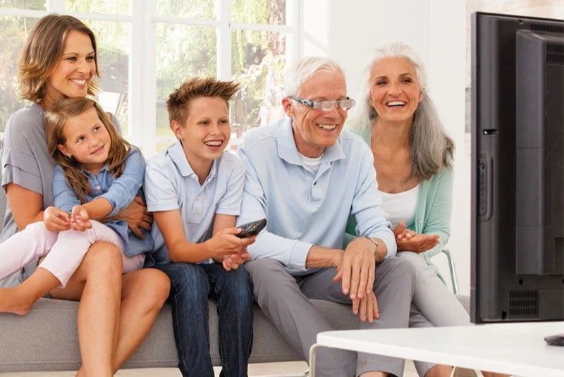
[[[94,35],[98,45],[100,91],[97,101],[105,111],[113,113],[127,136],[129,130],[128,83],[129,45],[131,32],[129,23],[114,21],[83,20]]]

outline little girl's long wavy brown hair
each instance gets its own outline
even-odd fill
[[[131,145],[119,135],[116,127],[111,123],[109,113],[104,113],[102,107],[93,99],[89,98],[63,98],[60,99],[52,109],[45,112],[45,125],[47,133],[47,148],[54,161],[63,168],[65,180],[68,187],[74,190],[82,204],[87,202],[86,196],[92,192],[88,183],[87,175],[84,173],[82,164],[73,157],[65,156],[59,151],[59,144],[65,144],[64,127],[66,120],[78,116],[89,109],[96,110],[98,118],[110,135],[110,150],[108,153],[109,171],[118,178],[123,173],[125,159],[131,149]]]

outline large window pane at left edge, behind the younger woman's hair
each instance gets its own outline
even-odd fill
[[[0,132],[4,132],[11,114],[25,105],[18,95],[18,59],[23,42],[36,22],[37,18],[0,16]]]

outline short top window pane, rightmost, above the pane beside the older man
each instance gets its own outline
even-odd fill
[[[286,25],[286,3],[295,0],[233,0],[233,22]]]

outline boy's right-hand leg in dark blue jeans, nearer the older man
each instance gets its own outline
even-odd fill
[[[245,266],[225,271],[221,264],[202,264],[217,299],[221,376],[247,376],[252,347],[252,287]]]

